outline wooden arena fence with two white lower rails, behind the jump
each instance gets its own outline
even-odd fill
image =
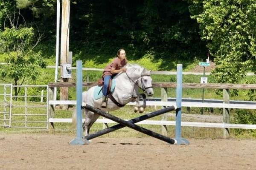
[[[97,82],[83,82],[83,86],[94,86],[97,85]],[[50,83],[49,90],[52,91],[50,93],[53,94],[53,88],[55,87],[75,87],[75,82],[58,82],[58,83]],[[147,101],[146,105],[152,106],[169,106],[173,105],[173,102],[168,102],[167,99],[167,88],[176,88],[175,82],[154,82],[152,83],[153,87],[161,88],[161,101]],[[256,84],[215,84],[215,83],[208,83],[208,84],[201,84],[201,83],[183,83],[183,88],[207,88],[207,89],[223,89],[224,98],[222,103],[218,102],[182,102],[182,107],[199,107],[199,108],[223,108],[223,123],[205,123],[205,122],[182,122],[182,126],[193,126],[193,127],[218,127],[224,128],[224,137],[229,136],[228,128],[241,128],[241,129],[256,129],[256,125],[239,125],[239,124],[230,124],[230,117],[229,117],[229,109],[230,108],[239,108],[239,109],[256,109],[255,103],[244,103],[240,101],[240,103],[230,103],[230,96],[229,96],[229,89],[256,89]],[[52,90],[51,90],[52,89]],[[49,95],[51,96],[51,95]],[[76,105],[76,101],[53,101],[49,99],[49,105],[51,105],[49,113],[54,115],[54,108],[52,105]],[[128,105],[135,105],[134,103],[128,103]],[[72,122],[71,119],[55,119],[53,116],[49,118],[49,122]],[[110,123],[108,119],[97,119],[96,122],[100,123]],[[162,134],[167,133],[166,125],[175,125],[173,121],[167,121],[167,116],[163,115],[161,121],[153,121],[153,120],[146,120],[141,122],[142,124],[150,124],[150,125],[162,125]],[[103,124],[103,125],[104,125]]]

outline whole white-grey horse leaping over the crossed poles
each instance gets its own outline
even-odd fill
[[[152,96],[154,94],[152,88],[152,79],[150,77],[151,71],[148,71],[136,64],[127,64],[125,65],[125,68],[127,68],[126,72],[121,72],[114,77],[114,79],[116,79],[116,87],[112,93],[112,96],[119,106],[116,104],[116,102],[113,102],[110,98],[108,98],[108,107],[101,108],[102,98],[94,99],[93,97],[96,86],[93,86],[88,91],[83,92],[82,102],[86,103],[87,105],[91,105],[94,108],[99,108],[102,111],[114,111],[129,102],[135,101],[137,102],[137,107],[140,107],[140,103],[138,101],[139,88],[141,88],[148,96]],[[136,112],[138,110],[135,109],[134,111]],[[141,112],[143,111],[140,111],[140,113]],[[99,115],[86,109],[83,109],[83,113],[85,118],[83,123],[84,136],[87,136],[90,127],[99,118]],[[75,120],[76,119],[73,114],[73,121]]]

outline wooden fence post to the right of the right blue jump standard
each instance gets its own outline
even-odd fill
[[[229,89],[223,89],[223,102],[230,103],[230,90]],[[230,123],[230,109],[229,108],[223,108],[223,122]],[[228,128],[223,129],[223,137],[224,138],[230,137],[230,131]]]

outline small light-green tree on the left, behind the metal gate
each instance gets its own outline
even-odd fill
[[[40,74],[39,68],[46,67],[41,53],[34,51],[42,35],[38,32],[36,37],[34,28],[26,25],[19,11],[8,10],[3,1],[1,6],[8,22],[4,23],[4,31],[0,32],[1,50],[7,54],[4,57],[6,64],[0,66],[0,79],[14,85],[22,85],[30,79],[35,80]],[[15,87],[14,90],[15,96],[19,94],[20,88]]]

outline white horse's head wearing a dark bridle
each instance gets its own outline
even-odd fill
[[[150,77],[150,72],[151,71],[148,71],[144,68],[142,73],[140,74],[140,78],[139,78],[140,88],[144,92],[146,92],[148,96],[152,96],[154,94],[154,90],[152,87],[152,78]]]

